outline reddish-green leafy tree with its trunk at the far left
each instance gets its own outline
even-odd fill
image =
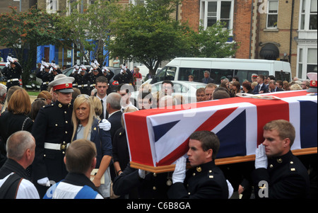
[[[23,67],[22,81],[27,84],[30,70],[35,67],[37,46],[60,42],[54,29],[57,17],[33,6],[28,11],[0,14],[0,45],[12,48],[13,56]],[[25,50],[28,50],[25,58]]]

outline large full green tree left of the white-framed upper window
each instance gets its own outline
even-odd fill
[[[141,62],[155,74],[160,62],[192,52],[192,29],[171,17],[179,1],[148,0],[129,5],[110,24],[111,56]]]

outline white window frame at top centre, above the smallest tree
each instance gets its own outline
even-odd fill
[[[222,1],[230,1],[231,8],[230,8],[230,21],[228,25],[228,29],[231,30],[230,34],[232,35],[233,29],[233,17],[234,17],[234,0],[201,0],[200,2],[200,20],[203,21],[204,29],[208,27],[208,2],[215,1],[217,3],[216,9],[216,21],[220,21],[220,9]]]

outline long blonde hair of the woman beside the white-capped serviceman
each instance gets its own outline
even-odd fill
[[[91,102],[91,99],[89,98],[89,96],[86,97],[85,95],[80,95],[74,100],[74,103],[73,103],[72,123],[73,123],[74,128],[73,128],[73,135],[72,135],[71,141],[73,141],[73,138],[76,134],[78,125],[80,124],[78,118],[76,117],[75,112],[76,112],[76,109],[82,103],[87,103],[88,108],[90,108],[90,115],[88,115],[88,123],[87,123],[86,127],[84,128],[84,134],[83,134],[84,139],[88,139],[88,134],[90,133],[90,129],[92,128],[92,125],[93,125],[93,118],[94,118],[95,113],[94,113],[94,108],[93,108],[93,104]]]

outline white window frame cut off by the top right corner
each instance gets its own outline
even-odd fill
[[[305,6],[303,5],[305,1]],[[310,29],[310,15],[316,15],[317,16],[317,12],[316,13],[310,13],[310,7],[311,7],[311,3],[312,1],[317,1],[317,0],[301,0],[300,1],[300,11],[299,11],[299,25],[298,25],[298,29],[299,30],[303,30],[303,31],[317,31],[316,30],[311,30]],[[304,8],[305,11],[302,11],[302,8]],[[304,18],[302,18],[302,16]],[[302,28],[302,19],[305,19],[304,22],[304,28]]]

